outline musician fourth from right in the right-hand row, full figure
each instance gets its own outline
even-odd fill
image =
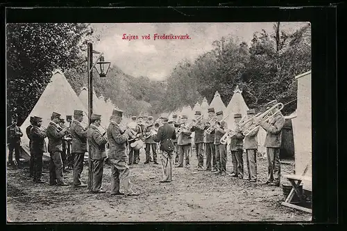
[[[221,121],[223,119],[223,111],[218,111],[216,116],[217,122],[214,132],[214,147],[216,150],[216,161],[218,168],[216,173],[226,175],[226,144],[221,144],[221,138],[224,134],[226,134],[228,125],[225,121]]]

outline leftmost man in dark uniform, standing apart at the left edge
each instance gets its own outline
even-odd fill
[[[21,137],[23,133],[17,126],[17,116],[13,116],[12,124],[7,127],[7,143],[8,143],[8,164],[19,166]],[[13,150],[15,150],[15,162],[13,161]]]

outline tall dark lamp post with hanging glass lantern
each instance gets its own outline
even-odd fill
[[[93,54],[99,54],[96,58],[95,63],[93,63]],[[93,113],[93,68],[95,67],[96,72],[98,72],[101,78],[106,77],[108,69],[110,68],[110,62],[105,62],[103,59],[103,53],[98,51],[93,51],[93,45],[91,42],[87,44],[87,68],[88,68],[88,124],[91,124],[91,116]],[[107,67],[107,69],[105,68]],[[106,70],[106,71],[105,71]],[[92,191],[92,159],[90,157],[90,148],[88,149],[88,189]]]

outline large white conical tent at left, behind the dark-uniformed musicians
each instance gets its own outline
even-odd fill
[[[47,127],[51,121],[53,111],[60,113],[60,118],[65,118],[65,120],[66,116],[74,115],[74,110],[82,110],[87,113],[86,107],[71,88],[62,71],[55,70],[52,74],[51,82],[48,83],[28,118],[23,122],[21,126],[22,132],[30,125],[31,116],[41,117],[42,126]],[[88,118],[85,116],[83,118],[83,127],[87,127],[87,122]],[[69,126],[67,122],[65,125]],[[46,138],[46,143],[48,144],[48,138]],[[27,154],[30,154],[28,144],[29,139],[24,134],[22,137],[22,148]]]

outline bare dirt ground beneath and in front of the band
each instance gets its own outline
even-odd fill
[[[266,186],[267,163],[258,158],[258,182],[251,183],[191,167],[174,168],[173,181],[160,184],[161,165],[130,166],[133,189],[140,196],[92,194],[86,188],[49,186],[48,163],[44,164],[46,184],[33,184],[28,164],[7,169],[7,213],[9,222],[136,222],[136,221],[311,221],[311,214],[282,206],[281,187]],[[282,174],[293,172],[294,162],[281,165]],[[227,171],[232,169],[228,154]],[[244,160],[245,175],[247,174]],[[82,180],[87,183],[87,164]],[[103,189],[110,191],[110,166],[105,166]],[[152,179],[153,178],[153,179]],[[72,173],[65,174],[72,183]],[[282,179],[282,182],[285,182]]]

